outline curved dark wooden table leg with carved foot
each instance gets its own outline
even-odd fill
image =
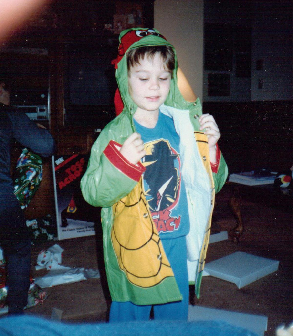
[[[241,208],[240,208],[241,197],[240,197],[238,186],[233,187],[233,195],[229,199],[228,205],[237,223],[237,225],[229,231],[229,236],[232,238],[232,241],[234,243],[238,243],[239,238],[242,236],[243,229],[244,229],[242,215],[241,215]]]

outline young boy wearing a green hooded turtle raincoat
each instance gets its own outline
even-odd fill
[[[110,321],[187,320],[199,297],[215,192],[227,177],[214,118],[177,86],[175,49],[156,30],[120,34],[123,112],[94,143],[81,180],[101,206]],[[188,271],[187,271],[188,270]]]

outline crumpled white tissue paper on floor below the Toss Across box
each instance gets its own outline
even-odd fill
[[[100,278],[98,269],[85,269],[83,267],[71,268],[60,265],[62,251],[64,250],[55,244],[48,250],[42,250],[39,253],[37,260],[39,266],[36,266],[36,269],[47,268],[50,271],[44,277],[35,278],[35,284],[41,288],[48,288],[90,278]]]

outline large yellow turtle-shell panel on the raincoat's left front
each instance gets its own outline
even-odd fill
[[[143,214],[143,215],[142,215]],[[119,267],[139,287],[152,287],[173,271],[138,183],[113,206],[111,239]]]

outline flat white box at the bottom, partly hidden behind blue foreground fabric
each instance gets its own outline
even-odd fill
[[[267,330],[266,316],[201,306],[189,305],[188,321],[224,321],[232,326],[247,329],[258,336],[263,336]]]

